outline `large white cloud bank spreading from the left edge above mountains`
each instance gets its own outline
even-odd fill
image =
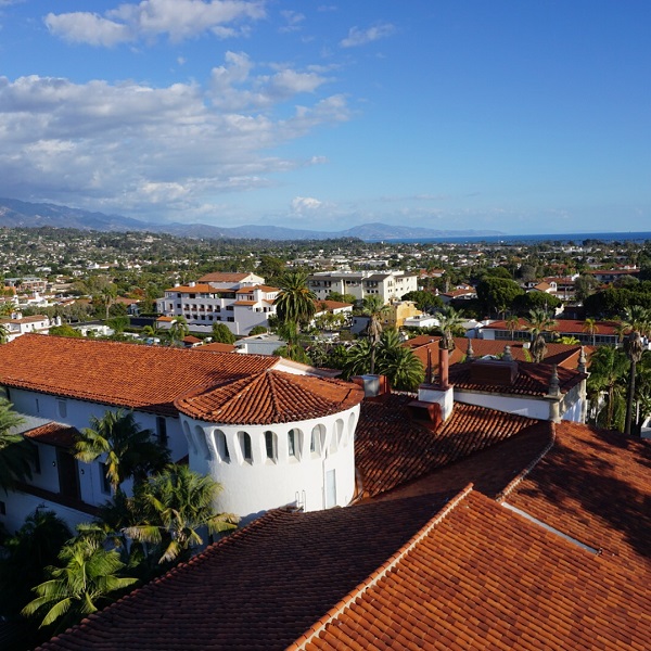
[[[229,55],[226,107],[212,103],[214,89],[199,82],[155,88],[0,77],[0,195],[142,217],[161,205],[189,220],[193,206],[219,194],[269,187],[272,175],[322,162],[268,152],[348,119],[346,99],[310,97],[290,108],[288,100],[323,79],[290,68],[256,77],[254,67],[245,54]]]

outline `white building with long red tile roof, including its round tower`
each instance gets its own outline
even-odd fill
[[[284,505],[315,510],[353,498],[363,394],[311,367],[26,335],[0,346],[0,385],[26,417],[21,431],[38,452],[29,485],[0,496],[0,522],[9,531],[39,505],[74,525],[110,498],[102,459],[82,463],[71,450],[91,417],[120,408],[132,410],[173,461],[189,456],[191,469],[222,482],[218,507],[244,519]]]

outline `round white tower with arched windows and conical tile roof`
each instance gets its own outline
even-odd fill
[[[267,370],[178,398],[190,468],[224,490],[221,512],[245,521],[285,505],[318,511],[355,494],[355,429],[363,390]]]

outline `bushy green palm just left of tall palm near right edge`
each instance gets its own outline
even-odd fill
[[[590,401],[598,409],[600,396],[605,393],[605,412],[598,410],[598,424],[612,429],[621,412],[622,383],[628,370],[626,355],[611,346],[600,346],[590,358],[590,376],[588,378],[588,391]]]

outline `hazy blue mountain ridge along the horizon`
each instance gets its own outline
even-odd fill
[[[422,227],[363,224],[344,231],[311,231],[279,226],[248,225],[233,228],[207,224],[152,224],[123,217],[71,208],[49,203],[29,203],[0,197],[0,227],[3,228],[74,228],[97,231],[148,231],[186,238],[215,238],[237,240],[410,240],[455,237],[501,235],[490,230],[436,230]]]

